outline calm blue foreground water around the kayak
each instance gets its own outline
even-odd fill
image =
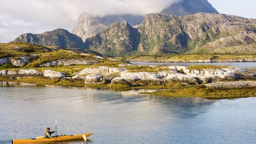
[[[255,143],[256,98],[206,100],[0,82],[0,143],[93,132],[89,144]],[[66,143],[81,143],[68,141]]]

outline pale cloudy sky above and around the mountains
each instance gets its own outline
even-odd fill
[[[0,43],[23,33],[72,30],[80,13],[157,13],[179,0],[0,0]],[[208,0],[220,13],[256,18],[255,0]]]

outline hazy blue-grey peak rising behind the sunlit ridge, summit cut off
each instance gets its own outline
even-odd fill
[[[183,16],[195,13],[219,13],[207,0],[181,0],[173,3],[160,13],[166,15]]]

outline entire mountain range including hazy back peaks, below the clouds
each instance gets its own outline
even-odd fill
[[[76,35],[56,29],[23,34],[14,41],[90,49],[104,56],[256,53],[256,19],[218,14],[207,0],[182,0],[160,13],[84,14],[72,30]]]

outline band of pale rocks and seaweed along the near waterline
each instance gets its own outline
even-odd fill
[[[157,68],[143,66],[146,70],[136,70],[136,68],[141,66],[131,64],[126,66],[122,64],[122,66],[124,67],[89,67],[76,72],[76,75],[72,77],[67,77],[65,73],[50,69],[41,72],[35,69],[20,69],[19,71],[2,70],[0,71],[0,80],[12,78],[14,81],[16,79],[26,81],[28,77],[40,77],[41,79],[37,83],[40,83],[40,81],[47,83],[47,80],[49,80],[49,84],[51,84],[50,82],[54,80],[58,85],[80,83],[82,86],[105,87],[115,90],[131,88],[182,88],[182,91],[185,91],[186,88],[191,87],[200,88],[202,91],[206,89],[224,89],[225,91],[225,89],[242,88],[241,90],[243,91],[241,93],[244,92],[244,88],[255,88],[256,90],[256,74],[235,67],[211,66],[209,68],[198,68],[170,66]],[[129,67],[133,68],[129,69]],[[33,78],[30,80],[33,83]],[[256,93],[254,96],[256,96]]]

